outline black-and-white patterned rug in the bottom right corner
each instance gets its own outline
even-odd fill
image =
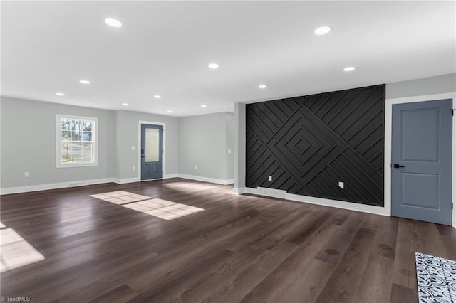
[[[456,303],[456,261],[415,252],[419,302]]]

